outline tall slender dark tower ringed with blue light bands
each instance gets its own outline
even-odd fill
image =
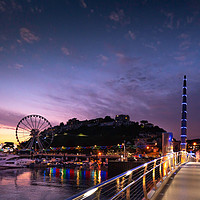
[[[182,118],[181,118],[181,151],[186,151],[187,147],[187,86],[186,75],[183,79],[183,101],[182,101]]]

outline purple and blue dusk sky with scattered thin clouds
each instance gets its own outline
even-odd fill
[[[179,139],[184,75],[199,138],[198,0],[0,0],[0,25],[0,142],[29,114],[128,114]]]

